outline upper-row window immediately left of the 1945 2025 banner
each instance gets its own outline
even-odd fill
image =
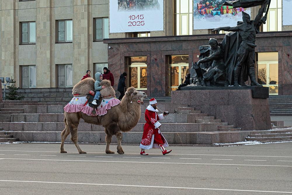
[[[94,18],[93,40],[100,41],[109,38],[109,19]]]

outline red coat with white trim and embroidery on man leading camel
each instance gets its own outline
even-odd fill
[[[159,130],[161,123],[158,122],[158,120],[163,120],[164,116],[163,114],[158,115],[157,113],[158,110],[155,110],[151,105],[147,106],[145,111],[146,123],[144,125],[142,141],[140,143],[140,148],[142,149],[159,148],[158,144],[154,143],[154,131],[158,131],[162,137],[162,140],[164,140],[164,147],[168,147],[166,139]]]

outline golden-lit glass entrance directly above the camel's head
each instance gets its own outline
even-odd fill
[[[130,57],[128,59],[129,87],[147,90],[147,57]]]

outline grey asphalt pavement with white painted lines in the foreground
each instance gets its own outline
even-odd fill
[[[105,145],[0,144],[1,194],[292,194],[292,142],[169,146],[140,155]],[[117,151],[111,145],[112,151]]]

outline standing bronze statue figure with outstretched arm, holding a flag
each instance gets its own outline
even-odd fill
[[[229,85],[245,86],[248,77],[252,86],[262,86],[256,81],[254,64],[255,64],[255,47],[256,34],[259,27],[267,20],[267,11],[269,9],[269,0],[237,0],[226,1],[223,5],[237,7],[253,7],[261,5],[258,15],[251,20],[247,13],[242,12],[243,22],[237,22],[235,27],[218,27],[213,31],[220,30],[232,31],[225,34],[223,41],[219,44],[223,50],[222,58],[224,59],[226,68],[226,80]],[[266,12],[263,17],[263,13]],[[194,71],[193,71],[194,72]],[[192,70],[191,70],[192,77]],[[194,74],[196,80],[197,74]],[[203,85],[204,86],[204,85]]]

